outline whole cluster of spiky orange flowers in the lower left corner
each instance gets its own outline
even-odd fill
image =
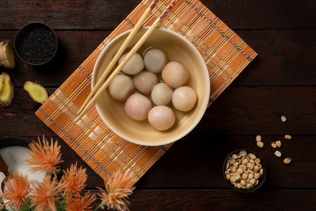
[[[38,138],[38,142],[32,142],[28,151],[30,158],[26,161],[31,166],[32,172],[42,171],[46,173],[43,182],[28,181],[27,176],[15,173],[4,181],[5,189],[0,193],[0,209],[5,206],[13,206],[15,210],[22,210],[30,206],[34,211],[90,211],[91,204],[96,200],[96,195],[89,191],[83,195],[87,181],[86,169],[72,164],[67,171],[63,171],[61,180],[57,179],[57,172],[61,160],[61,147],[57,141],[50,143],[47,139]],[[113,174],[108,182],[104,182],[106,190],[100,189],[98,196],[101,204],[93,210],[104,205],[120,211],[128,209],[128,196],[133,193],[135,180],[120,171]],[[61,207],[58,207],[64,203]],[[30,205],[31,204],[31,205]]]

